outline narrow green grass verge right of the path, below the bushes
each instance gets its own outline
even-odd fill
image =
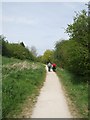
[[[66,70],[57,69],[66,94],[75,105],[77,117],[88,117],[88,84],[81,82],[83,78],[74,76]]]

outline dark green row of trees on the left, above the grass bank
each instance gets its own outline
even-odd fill
[[[28,48],[25,47],[24,43],[9,43],[5,40],[5,38],[1,39],[2,41],[2,55],[7,57],[14,57],[18,59],[29,59],[35,60],[35,57],[29,51]]]

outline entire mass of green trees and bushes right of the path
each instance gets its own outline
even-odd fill
[[[76,13],[74,23],[68,25],[66,32],[70,35],[70,39],[56,43],[55,59],[59,66],[83,76],[84,81],[88,81],[90,72],[88,17],[84,10]]]

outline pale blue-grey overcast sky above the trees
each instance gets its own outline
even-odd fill
[[[83,9],[84,2],[3,2],[2,32],[9,42],[23,41],[41,55],[59,39],[68,39],[64,28]]]

